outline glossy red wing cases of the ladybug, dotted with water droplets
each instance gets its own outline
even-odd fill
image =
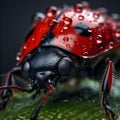
[[[62,9],[56,9],[56,12],[48,9],[47,11],[49,14],[46,13],[46,17],[37,23],[31,36],[23,43],[19,64],[41,45],[42,39],[50,30],[53,19]],[[88,26],[90,35],[78,34],[75,31],[75,26],[78,24]],[[83,58],[92,58],[115,46],[120,46],[120,22],[107,16],[103,10],[92,10],[84,4],[68,7],[51,32],[54,38],[44,46],[60,47]]]

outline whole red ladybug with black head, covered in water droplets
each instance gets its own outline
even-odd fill
[[[80,77],[82,60],[94,59],[120,46],[120,22],[117,17],[109,17],[104,9],[93,10],[86,2],[63,8],[51,6],[46,10],[46,15],[36,13],[33,21],[16,57],[16,67],[3,76],[0,87],[3,100],[1,110],[5,109],[13,90],[35,91],[33,99],[41,90],[44,92],[30,120],[37,119],[58,82]],[[101,86],[102,105],[106,116],[115,120],[117,116],[107,98],[112,85],[112,72],[113,62],[107,58]],[[17,84],[16,75],[24,83],[30,83],[31,88],[25,89]]]

